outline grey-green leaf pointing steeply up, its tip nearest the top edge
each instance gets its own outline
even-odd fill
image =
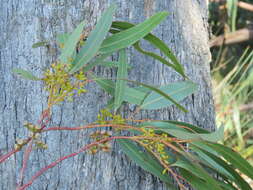
[[[90,33],[85,45],[77,54],[73,62],[74,66],[70,70],[70,73],[74,73],[81,69],[97,54],[105,36],[111,27],[115,9],[116,6],[112,5],[105,11],[105,13],[102,14],[94,30],[92,30]]]

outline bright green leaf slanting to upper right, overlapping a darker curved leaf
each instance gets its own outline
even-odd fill
[[[113,34],[108,37],[102,44],[99,52],[109,53],[119,49],[126,48],[151,32],[162,20],[168,16],[168,12],[160,12],[150,17],[143,23],[132,28]]]

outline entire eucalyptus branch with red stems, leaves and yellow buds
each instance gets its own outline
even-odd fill
[[[91,31],[88,37],[89,40],[87,41],[86,37],[83,35],[84,22],[81,22],[72,33],[64,34],[66,35],[66,38],[64,37],[64,39],[60,39],[59,42],[60,47],[62,48],[61,55],[46,71],[44,71],[43,78],[33,76],[30,72],[22,69],[14,70],[15,73],[26,79],[42,81],[44,84],[44,90],[48,93],[47,109],[41,113],[37,124],[24,124],[24,127],[31,132],[31,135],[24,140],[19,140],[12,151],[0,157],[0,163],[3,163],[10,156],[21,151],[24,146],[28,145],[23,153],[23,163],[20,169],[17,190],[26,189],[49,169],[86,150],[89,150],[92,154],[95,154],[97,151],[107,152],[110,150],[109,142],[116,139],[121,139],[121,141],[117,141],[117,143],[124,147],[122,148],[124,153],[130,159],[136,161],[140,167],[148,170],[157,177],[160,177],[160,179],[165,182],[168,180],[161,174],[167,172],[166,175],[172,175],[181,189],[186,189],[184,184],[182,184],[182,181],[191,181],[191,177],[187,175],[187,172],[191,173],[192,171],[189,170],[189,166],[187,166],[188,163],[185,163],[186,166],[182,167],[184,167],[183,169],[186,173],[180,173],[180,170],[178,171],[179,174],[174,172],[174,168],[172,169],[172,166],[170,166],[169,163],[167,149],[172,150],[171,152],[176,155],[175,162],[183,162],[184,159],[182,159],[182,157],[185,157],[187,159],[190,158],[188,159],[190,166],[198,166],[196,167],[197,172],[204,175],[203,177],[195,177],[196,181],[200,182],[203,186],[209,188],[211,184],[214,190],[221,190],[222,185],[227,185],[225,182],[223,183],[221,181],[216,183],[215,180],[210,177],[208,172],[201,167],[201,164],[199,163],[200,161],[197,160],[198,162],[195,162],[195,155],[193,156],[192,153],[187,152],[185,148],[185,145],[191,144],[195,140],[201,139],[199,142],[203,142],[204,140],[202,139],[206,137],[208,137],[208,143],[205,143],[205,146],[208,146],[209,149],[214,152],[216,151],[217,154],[213,155],[212,151],[205,153],[205,150],[201,149],[202,147],[198,147],[199,150],[196,149],[196,154],[205,154],[206,157],[211,155],[211,158],[212,156],[215,156],[215,161],[217,160],[217,163],[215,161],[208,163],[210,164],[209,167],[216,168],[217,164],[220,166],[220,163],[223,163],[223,159],[225,159],[226,162],[222,164],[224,168],[230,168],[230,165],[234,165],[234,167],[237,167],[240,172],[253,178],[253,167],[251,167],[245,160],[241,159],[241,157],[238,157],[238,155],[230,149],[215,143],[221,139],[221,135],[218,132],[211,133],[184,122],[166,122],[163,120],[152,120],[150,118],[139,120],[134,119],[134,116],[141,110],[163,109],[172,104],[177,108],[186,111],[179,102],[197,91],[198,87],[197,84],[188,80],[183,66],[171,52],[170,48],[167,47],[162,40],[150,33],[156,25],[167,17],[167,12],[157,13],[138,25],[128,22],[113,22],[114,12],[115,6],[110,6],[108,10],[103,13],[102,18],[98,20],[97,25]],[[127,32],[124,32],[125,30]],[[111,32],[112,35],[108,35],[108,32]],[[163,54],[163,56],[143,50],[139,45],[139,41],[142,39],[151,43]],[[133,46],[140,53],[150,56],[170,67],[187,80],[166,84],[160,87],[127,80],[129,65],[127,64],[128,59],[126,48],[129,46]],[[90,70],[93,66],[101,65],[104,59],[112,55],[114,52],[119,53],[118,61],[110,63],[113,67],[117,67],[117,77],[114,78],[115,80],[97,78],[95,74],[90,74],[91,77],[86,76],[91,72]],[[85,69],[83,70],[84,67]],[[101,109],[98,113],[97,121],[91,124],[76,127],[50,127],[49,122],[51,120],[52,107],[63,101],[72,99],[74,95],[86,93],[86,85],[89,82],[95,82],[114,98],[113,103],[108,102],[110,103],[110,105],[108,104],[108,107],[110,108]],[[132,82],[139,86],[137,88],[132,88],[127,85],[127,82]],[[119,108],[126,102],[137,106],[137,109],[130,115],[130,118],[122,118],[119,112]],[[130,122],[136,122],[137,124],[130,125]],[[105,127],[110,127],[112,130],[109,132],[99,130]],[[174,133],[170,130],[170,127],[173,128]],[[44,132],[63,130],[77,131],[86,129],[96,129],[95,132],[93,131],[93,133],[90,134],[90,138],[93,139],[92,143],[83,146],[74,153],[62,156],[56,161],[51,162],[49,165],[37,171],[27,183],[23,183],[25,172],[27,171],[27,163],[33,146],[36,146],[37,148],[47,148],[47,144],[40,140],[40,136]],[[125,130],[132,132],[131,134],[133,136],[113,136]],[[112,134],[112,132],[115,132],[115,134]],[[125,139],[125,141],[123,141],[123,139]],[[139,146],[147,149],[147,153],[141,152],[142,149]],[[229,152],[229,154],[227,154],[227,152]],[[152,161],[160,163],[162,168],[160,166],[153,166],[152,161],[146,160],[150,154],[155,158],[155,160]],[[200,169],[198,170],[198,168]],[[225,180],[229,181],[231,184],[236,184],[237,186],[242,185],[240,187],[243,190],[249,190],[247,182],[243,181],[238,183],[238,178],[234,178],[237,174],[236,170],[232,168],[230,170],[232,172],[230,176],[233,177],[229,178],[230,176],[228,176]],[[217,172],[221,174],[221,176],[224,176],[222,172]],[[210,178],[212,178],[211,182]],[[196,185],[197,182],[192,185]]]

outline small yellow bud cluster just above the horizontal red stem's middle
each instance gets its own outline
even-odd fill
[[[125,124],[125,119],[121,117],[119,114],[112,114],[107,109],[100,110],[100,114],[97,117],[97,123],[104,124]]]

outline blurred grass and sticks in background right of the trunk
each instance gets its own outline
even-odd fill
[[[210,0],[212,79],[223,143],[253,164],[253,1]]]

